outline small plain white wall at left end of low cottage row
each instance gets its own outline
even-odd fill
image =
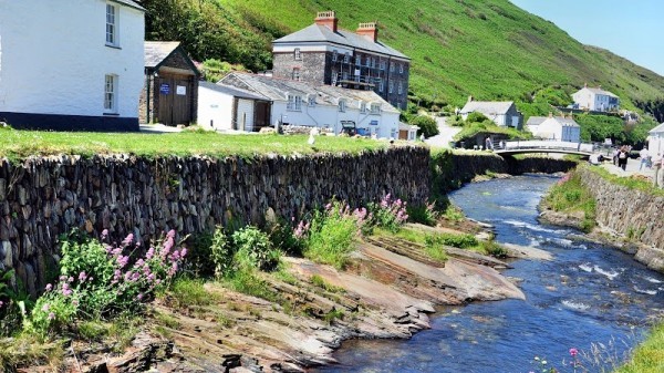
[[[198,124],[212,129],[231,129],[232,100],[232,95],[198,86]]]

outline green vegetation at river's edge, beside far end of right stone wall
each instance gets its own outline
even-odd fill
[[[590,231],[595,222],[595,200],[581,184],[581,176],[577,172],[567,174],[554,186],[551,187],[549,194],[544,197],[547,206],[554,211],[574,214],[581,213],[583,220],[581,229]]]

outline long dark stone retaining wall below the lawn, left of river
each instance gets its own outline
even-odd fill
[[[361,155],[256,158],[127,155],[0,163],[0,269],[14,268],[34,294],[58,261],[58,236],[74,227],[147,241],[230,219],[260,225],[273,211],[298,217],[330,198],[357,206],[387,193],[411,204],[429,195],[429,153],[396,147]],[[270,213],[269,213],[270,211]]]

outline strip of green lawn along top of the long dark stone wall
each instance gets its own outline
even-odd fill
[[[387,141],[318,136],[313,146],[305,135],[226,135],[214,132],[94,133],[0,131],[0,157],[21,159],[31,155],[133,153],[141,156],[209,155],[252,156],[256,154],[352,153],[390,147]],[[400,143],[400,142],[397,142]],[[405,143],[401,143],[405,144]]]

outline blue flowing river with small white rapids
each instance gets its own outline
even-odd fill
[[[611,372],[663,308],[664,276],[619,250],[570,239],[573,229],[540,225],[537,205],[557,180],[519,176],[450,195],[466,216],[494,225],[497,241],[553,255],[549,262],[516,260],[504,272],[522,279],[526,301],[440,308],[432,330],[407,341],[346,342],[340,364],[318,372],[528,373],[541,372],[542,361],[574,372],[571,348],[588,372]]]

